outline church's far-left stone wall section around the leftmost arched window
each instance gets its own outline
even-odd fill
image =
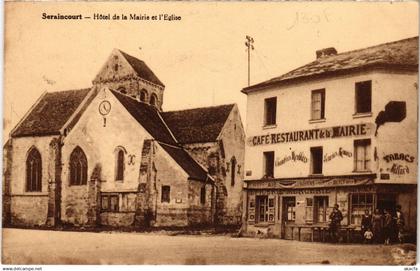
[[[57,137],[20,137],[12,139],[13,159],[10,170],[10,216],[12,225],[45,225],[48,216],[48,188],[54,179],[54,159],[50,157],[50,142]],[[36,147],[42,160],[42,191],[26,191],[26,158]]]

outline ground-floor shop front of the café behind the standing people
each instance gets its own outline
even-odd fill
[[[349,239],[360,230],[365,210],[395,210],[401,205],[406,227],[416,228],[416,185],[375,184],[376,174],[300,179],[250,180],[246,183],[246,231],[282,239],[322,241],[335,204]]]

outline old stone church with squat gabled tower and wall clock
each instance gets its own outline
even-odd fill
[[[90,88],[44,93],[4,145],[3,223],[239,225],[237,105],[163,112],[164,90],[114,49]]]

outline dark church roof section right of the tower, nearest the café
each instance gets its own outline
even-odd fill
[[[215,142],[234,104],[162,112],[166,124],[181,144]]]

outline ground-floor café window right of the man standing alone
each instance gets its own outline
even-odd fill
[[[354,225],[360,225],[362,222],[362,216],[365,210],[369,210],[373,213],[373,194],[360,193],[350,195],[350,223]]]

